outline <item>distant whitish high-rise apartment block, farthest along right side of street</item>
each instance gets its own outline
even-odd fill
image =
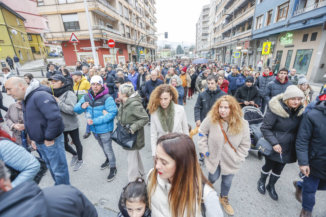
[[[197,57],[209,58],[209,5],[202,7],[196,24],[196,55]]]

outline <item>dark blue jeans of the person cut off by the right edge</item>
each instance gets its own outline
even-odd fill
[[[315,194],[317,190],[326,191],[326,180],[309,175],[304,177],[304,181],[298,181],[298,188],[302,189],[302,208],[312,212],[315,205]]]

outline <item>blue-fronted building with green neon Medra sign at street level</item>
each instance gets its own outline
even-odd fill
[[[326,0],[256,1],[253,67],[260,59],[265,66],[279,61],[280,68],[295,68],[311,82],[324,82]],[[272,42],[271,53],[262,55],[266,41]]]

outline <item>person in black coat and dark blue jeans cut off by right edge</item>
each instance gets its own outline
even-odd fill
[[[306,112],[298,130],[295,150],[304,181],[294,181],[295,196],[302,203],[300,216],[311,216],[317,190],[326,191],[326,101]]]

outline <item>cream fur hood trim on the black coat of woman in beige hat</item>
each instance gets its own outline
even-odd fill
[[[282,102],[284,93],[280,93],[276,96],[274,96],[268,103],[269,108],[275,115],[279,115],[283,118],[288,118],[290,115],[287,110],[289,110],[289,107]],[[299,106],[299,112],[297,113],[297,116],[299,117],[304,113],[305,106]]]

